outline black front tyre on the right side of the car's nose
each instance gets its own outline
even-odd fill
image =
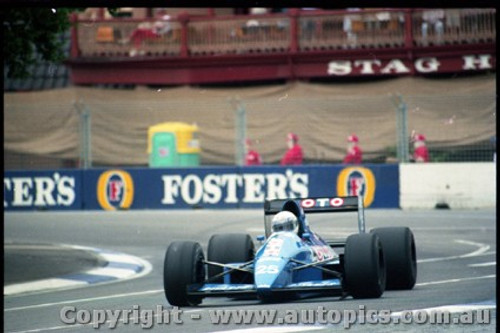
[[[351,235],[344,250],[344,284],[354,298],[378,298],[385,291],[386,271],[377,235]]]

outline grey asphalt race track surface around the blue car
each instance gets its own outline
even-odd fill
[[[208,240],[214,233],[248,232],[255,237],[263,234],[261,210],[5,212],[4,219],[4,243],[72,244],[99,248],[139,257],[152,267],[149,274],[135,279],[4,296],[6,332],[95,331],[96,323],[64,323],[61,313],[65,309],[73,311],[66,312],[65,321],[68,317],[75,319],[77,314],[82,321],[88,321],[86,314],[94,313],[93,318],[97,320],[97,312],[93,312],[96,310],[102,310],[99,313],[129,310],[123,312],[119,320],[109,316],[98,318],[102,320],[101,329],[109,330],[116,324],[120,332],[135,332],[149,326],[148,331],[175,332],[325,332],[341,331],[346,326],[351,326],[350,332],[494,332],[496,328],[495,209],[367,210],[367,229],[409,226],[413,230],[418,278],[411,291],[387,291],[382,298],[370,300],[316,298],[279,304],[212,298],[205,299],[198,307],[181,309],[172,309],[163,292],[163,260],[167,245],[174,240],[194,240],[206,253]],[[356,232],[357,228],[354,213],[319,214],[310,217],[310,224],[325,238],[346,236]],[[158,308],[167,315],[152,312]],[[211,315],[221,309],[259,310],[255,315],[277,311],[281,317],[267,325],[258,323],[255,317],[249,324],[212,323]],[[415,318],[411,323],[402,320],[408,319],[407,310],[423,309],[447,312],[451,323],[429,323],[430,312],[425,311],[416,312],[418,316],[411,317]],[[174,310],[178,310],[177,313]],[[293,317],[286,317],[284,321],[283,315],[291,315],[292,310],[298,311],[299,320],[294,322]],[[349,310],[357,310],[356,323],[347,325],[346,311]],[[373,310],[384,311],[373,315]],[[126,319],[125,313],[130,315]],[[381,314],[388,313],[391,315],[381,320]],[[148,317],[151,314],[152,317]],[[153,321],[151,325],[148,318]],[[309,322],[311,318],[316,319]],[[376,320],[382,323],[373,324]],[[398,320],[399,324],[396,324]],[[478,320],[490,324],[477,323]]]

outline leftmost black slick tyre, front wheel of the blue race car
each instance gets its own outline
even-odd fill
[[[204,255],[200,244],[177,241],[170,244],[163,265],[163,287],[173,306],[194,306],[202,298],[189,296],[187,286],[205,279]]]

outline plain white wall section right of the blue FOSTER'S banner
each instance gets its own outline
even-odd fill
[[[401,164],[402,209],[496,207],[496,163]]]

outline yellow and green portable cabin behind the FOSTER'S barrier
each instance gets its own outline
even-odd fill
[[[200,151],[196,125],[168,122],[148,129],[150,167],[199,166]]]

